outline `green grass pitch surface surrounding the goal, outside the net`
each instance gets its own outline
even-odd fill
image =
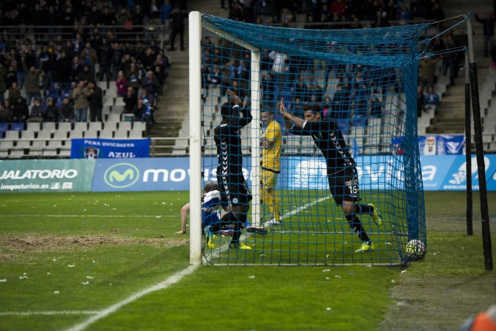
[[[426,193],[428,255],[407,268],[187,269],[187,192],[1,195],[0,330],[454,330],[496,297],[464,197]]]

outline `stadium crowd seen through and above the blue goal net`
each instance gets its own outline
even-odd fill
[[[306,17],[307,29],[360,29],[408,24],[408,21],[442,20],[444,13],[438,0],[295,0],[295,1],[230,1],[229,18],[248,23],[295,26],[296,17]],[[464,31],[456,30],[445,38],[436,38],[427,53],[467,45]],[[333,44],[327,45],[332,51]],[[356,51],[356,50],[355,50]],[[236,59],[236,60],[235,60]],[[436,64],[441,62],[442,75],[449,74],[454,84],[463,54],[448,53],[425,58],[419,65],[418,116],[435,108],[439,96],[434,91],[438,78]],[[262,104],[276,105],[284,98],[288,108],[301,116],[303,105],[322,104],[323,115],[337,120],[346,130],[351,123],[364,123],[365,117],[381,118],[388,91],[401,92],[403,84],[395,70],[377,70],[361,65],[312,62],[264,49],[261,54]],[[235,45],[217,45],[204,39],[203,81],[220,87],[220,96],[228,88],[247,98],[250,55]],[[323,77],[322,77],[323,72]],[[331,83],[329,89],[328,83]],[[391,94],[391,93],[389,93]],[[220,97],[219,97],[220,102]],[[280,119],[278,119],[280,120]]]

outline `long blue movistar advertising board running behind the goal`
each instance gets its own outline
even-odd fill
[[[401,155],[358,156],[360,190],[403,188]],[[467,185],[465,156],[421,156],[422,180],[426,191],[463,191]],[[243,174],[251,188],[250,158],[243,158]],[[485,156],[487,188],[496,191],[496,155]],[[479,190],[477,160],[472,157],[472,188]],[[216,182],[217,158],[203,158],[203,182]],[[325,160],[321,157],[281,158],[278,189],[328,189]],[[187,191],[189,158],[99,159],[95,165],[93,192],[107,191]]]

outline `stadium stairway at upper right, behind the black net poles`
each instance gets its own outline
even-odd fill
[[[472,12],[477,13],[479,16],[485,16],[487,11],[492,12],[493,3],[487,0],[445,0],[442,2],[445,17],[453,17],[463,13]],[[474,8],[477,11],[473,12]],[[452,21],[456,22],[456,19]],[[448,21],[447,23],[451,23]],[[447,25],[446,25],[447,26]],[[481,113],[484,116],[485,109],[489,106],[488,100],[491,99],[492,92],[495,89],[494,84],[485,85],[487,80],[494,75],[490,71],[490,60],[484,58],[483,54],[483,31],[482,24],[478,23],[475,18],[473,19],[474,28],[474,51],[477,62],[477,71],[479,78],[479,96],[481,102]],[[466,30],[466,25],[463,25]],[[463,64],[460,64],[461,66]],[[484,88],[483,88],[484,86]],[[431,122],[431,126],[427,128],[427,133],[441,134],[441,133],[463,133],[465,132],[465,72],[458,71],[458,77],[455,79],[454,86],[449,86],[445,94],[442,96],[442,102],[439,104],[435,111],[436,115]],[[472,124],[473,128],[473,124]],[[472,134],[473,134],[472,129]]]

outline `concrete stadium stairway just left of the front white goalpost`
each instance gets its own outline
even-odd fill
[[[187,2],[187,12],[197,10],[216,16],[227,16],[226,9],[220,7],[218,0],[190,0]],[[175,51],[166,51],[171,61],[169,74],[167,76],[163,95],[158,102],[158,110],[155,112],[157,124],[150,130],[151,137],[187,137],[188,133],[188,107],[189,107],[189,86],[188,86],[188,22],[185,21],[185,51],[179,50],[179,37],[176,37]],[[169,49],[166,46],[166,50]],[[185,154],[187,151],[187,141],[183,139],[157,140],[154,146],[155,156],[166,154]]]

